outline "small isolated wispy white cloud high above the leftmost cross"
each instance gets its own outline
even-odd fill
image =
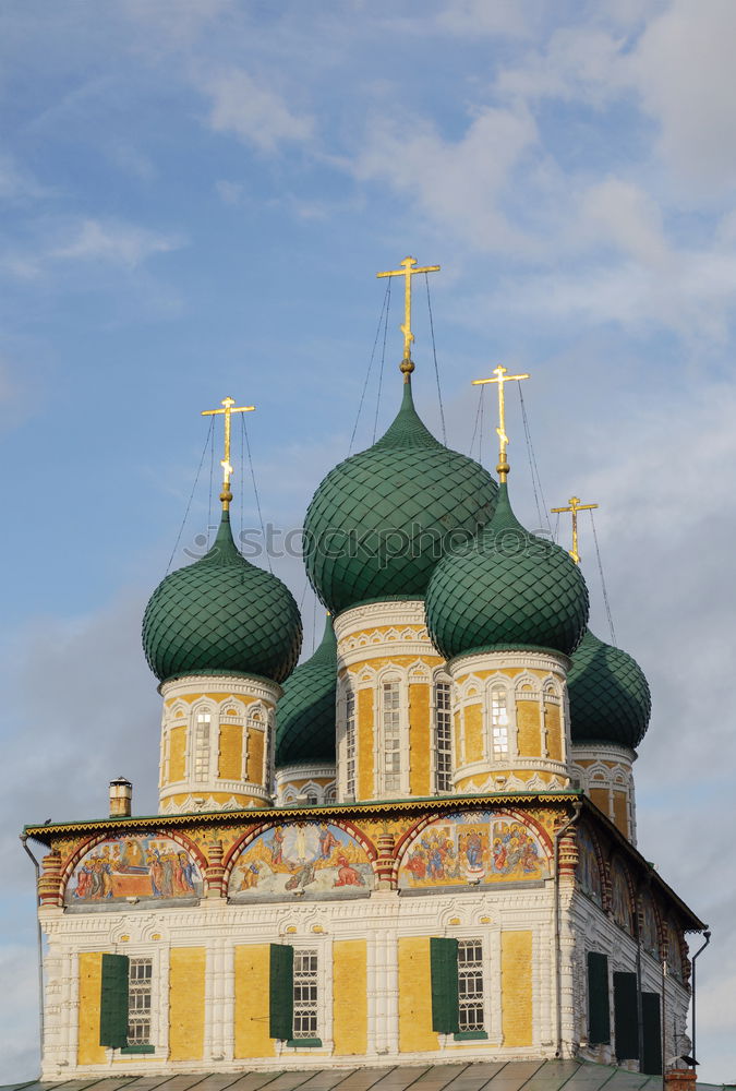
[[[202,81],[213,99],[209,124],[215,132],[234,133],[261,152],[312,137],[314,119],[255,80],[241,68],[229,68]]]

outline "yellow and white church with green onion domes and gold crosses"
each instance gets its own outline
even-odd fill
[[[216,539],[143,619],[158,814],[120,778],[109,815],[24,829],[46,852],[49,1082],[552,1058],[656,1075],[688,1052],[686,935],[705,925],[637,848],[647,681],[587,627],[577,549],[514,513],[504,388],[527,376],[490,380],[497,480],[420,419],[415,272],[391,271],[396,417],[304,518],[314,655],[297,666],[297,602],[233,539],[245,407],[226,398]]]

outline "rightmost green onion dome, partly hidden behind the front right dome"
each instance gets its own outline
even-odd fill
[[[586,630],[567,675],[574,743],[617,743],[636,750],[644,738],[652,696],[631,656]]]

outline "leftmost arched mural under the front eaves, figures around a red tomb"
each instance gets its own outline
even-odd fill
[[[82,856],[67,883],[64,903],[200,898],[202,887],[197,864],[177,841],[130,835],[100,841]]]

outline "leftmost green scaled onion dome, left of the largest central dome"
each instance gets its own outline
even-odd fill
[[[170,573],[150,596],[143,618],[143,648],[161,682],[221,673],[282,682],[299,659],[301,643],[291,591],[240,553],[228,512],[209,552]]]

